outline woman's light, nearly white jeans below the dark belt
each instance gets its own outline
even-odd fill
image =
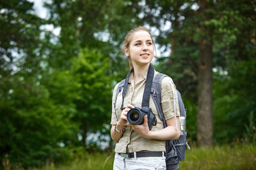
[[[155,170],[166,169],[166,156],[162,157],[142,157],[142,158],[123,158],[115,153],[113,170]]]

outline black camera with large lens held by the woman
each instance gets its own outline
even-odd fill
[[[147,115],[147,124],[148,129],[151,130],[152,126],[156,126],[157,120],[155,114],[152,112],[151,108],[143,107],[143,108],[131,108],[127,113],[127,121],[130,124],[134,125],[142,125],[144,123],[144,116]]]

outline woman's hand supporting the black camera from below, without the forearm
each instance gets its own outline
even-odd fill
[[[137,131],[139,135],[141,135],[144,138],[150,138],[150,130],[148,129],[148,124],[147,124],[147,115],[144,116],[144,123],[142,125],[134,125],[130,124],[128,122],[128,125],[130,125],[133,130]]]

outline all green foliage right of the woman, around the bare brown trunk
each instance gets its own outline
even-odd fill
[[[203,3],[205,10],[199,8]],[[197,87],[200,35],[203,33],[205,42],[213,41],[217,143],[245,137],[249,131],[253,139],[255,134],[255,116],[249,121],[249,115],[255,114],[255,6],[253,1],[148,0],[141,8],[147,24],[158,28],[157,42],[171,43],[170,57],[158,59],[160,71],[174,79],[183,98],[189,101],[185,106],[194,106],[193,111],[197,110],[200,90]],[[171,22],[171,29],[163,29],[166,22]],[[188,130],[196,128],[195,115],[196,112],[188,115]],[[195,135],[194,131],[192,134]]]

